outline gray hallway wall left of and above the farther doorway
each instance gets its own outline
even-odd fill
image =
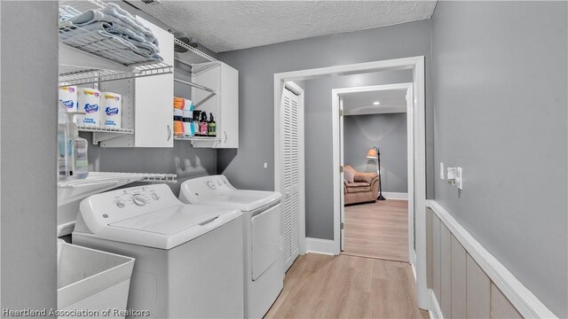
[[[324,77],[304,81],[306,236],[333,239],[333,158],[331,90],[412,82],[412,72],[398,70]],[[321,156],[322,152],[328,156]],[[365,156],[365,155],[363,155]]]

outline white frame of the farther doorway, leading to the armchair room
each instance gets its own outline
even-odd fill
[[[390,89],[406,89],[406,171],[408,172],[408,261],[415,268],[415,255],[414,255],[414,138],[413,138],[413,117],[414,113],[414,103],[413,103],[413,84],[412,83],[396,83],[396,84],[384,84],[384,85],[371,85],[364,87],[354,87],[354,88],[342,88],[342,89],[332,89],[331,90],[331,101],[332,101],[332,114],[335,114],[333,125],[333,136],[337,136],[334,140],[338,152],[334,153],[334,167],[343,166],[343,129],[341,128],[340,122],[340,105],[339,98],[347,93],[362,93],[362,92],[373,92],[380,90],[390,90]],[[344,107],[344,106],[343,106]],[[344,115],[344,114],[343,114]],[[371,147],[372,145],[369,145]],[[362,156],[362,155],[361,155]],[[337,175],[337,179],[335,179]],[[334,184],[339,187],[339,190],[335,192],[339,201],[334,200],[334,212],[339,210],[340,217],[339,221],[344,220],[344,197],[345,192],[343,190],[344,185],[343,173],[336,174],[334,169]],[[343,199],[342,199],[343,198]],[[334,216],[335,218],[335,216]],[[343,245],[343,232],[340,227],[340,250],[341,245]],[[335,243],[337,245],[337,243]]]

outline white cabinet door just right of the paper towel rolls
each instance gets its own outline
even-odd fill
[[[174,36],[141,19],[160,43],[163,62],[173,66]],[[174,75],[161,74],[134,81],[134,144],[136,147],[173,147]]]

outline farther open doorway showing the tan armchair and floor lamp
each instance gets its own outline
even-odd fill
[[[409,262],[414,250],[412,83],[334,89],[343,166],[342,253]]]

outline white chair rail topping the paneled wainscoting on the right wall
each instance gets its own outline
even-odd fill
[[[505,268],[485,247],[472,237],[467,230],[454,220],[444,207],[435,200],[426,200],[426,206],[430,207],[443,222],[447,229],[452,232],[455,239],[465,248],[471,258],[477,262],[487,276],[493,281],[507,297],[510,303],[525,318],[556,318],[556,315],[548,309],[534,294],[522,284],[516,276]]]

